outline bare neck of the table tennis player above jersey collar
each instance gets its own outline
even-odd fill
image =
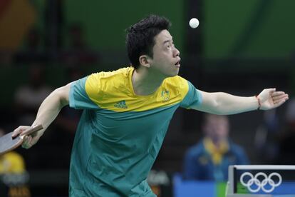
[[[159,74],[152,73],[149,69],[140,66],[133,72],[133,90],[135,94],[142,96],[153,94],[161,86],[165,78],[165,76],[159,76]]]

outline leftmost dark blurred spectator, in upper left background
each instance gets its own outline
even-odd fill
[[[44,62],[48,55],[41,49],[41,34],[38,29],[31,29],[26,36],[25,47],[14,56],[16,63]]]

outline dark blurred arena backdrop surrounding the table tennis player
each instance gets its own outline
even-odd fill
[[[197,89],[254,96],[286,91],[276,111],[229,116],[230,137],[252,164],[295,164],[295,1],[0,1],[0,128],[31,125],[43,98],[93,72],[129,65],[125,29],[148,14],[167,17],[185,77]],[[191,18],[200,20],[191,29]],[[81,111],[63,108],[29,151],[16,150],[31,196],[68,196],[68,166]],[[150,174],[158,196],[173,196],[185,151],[202,138],[203,115],[178,109]],[[1,187],[1,185],[0,185]]]

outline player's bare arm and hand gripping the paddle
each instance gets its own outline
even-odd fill
[[[32,126],[36,124],[41,124],[43,129],[33,133],[31,136],[26,136],[22,146],[24,148],[31,148],[38,139],[43,135],[46,128],[53,122],[53,120],[58,116],[58,113],[61,111],[63,106],[68,105],[68,97],[70,93],[70,86],[68,84],[61,88],[54,90],[49,96],[47,96],[44,101],[41,103],[41,106],[38,109],[38,113],[35,121]],[[26,130],[30,126],[19,126],[14,130],[13,136],[17,136],[22,131]]]

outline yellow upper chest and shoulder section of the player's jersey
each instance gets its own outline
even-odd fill
[[[132,67],[88,76],[86,94],[100,108],[111,111],[145,111],[180,103],[188,92],[187,80],[180,76],[167,78],[159,89],[149,96],[134,94]]]

